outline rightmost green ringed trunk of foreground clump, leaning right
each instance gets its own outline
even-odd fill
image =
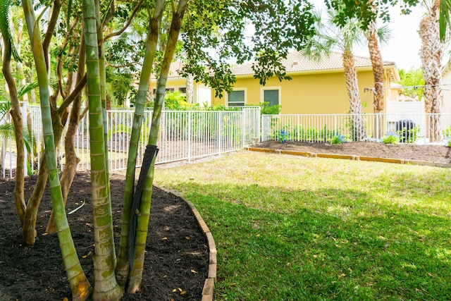
[[[173,12],[173,18],[171,22],[171,29],[168,33],[168,43],[166,44],[166,50],[163,56],[163,63],[161,65],[161,71],[159,80],[156,86],[156,99],[154,104],[154,112],[152,115],[152,125],[150,128],[149,142],[148,145],[151,147],[156,147],[156,142],[159,137],[160,119],[161,119],[161,109],[164,102],[164,93],[166,89],[166,81],[168,79],[169,67],[171,66],[171,61],[173,59],[173,54],[175,51],[175,45],[178,40],[178,35],[180,33],[180,27],[183,22],[183,16],[187,8],[187,3],[189,0],[180,0],[178,2],[177,11]],[[149,225],[149,214],[152,201],[152,185],[154,183],[154,164],[155,157],[152,158],[151,164],[149,166],[149,171],[147,172],[147,178],[145,178],[144,190],[142,191],[140,210],[137,214],[137,228],[135,236],[135,250],[134,250],[134,260],[132,264],[132,269],[130,270],[130,279],[128,284],[128,291],[134,293],[140,288],[140,283],[142,281],[142,270],[144,266],[144,250],[147,240],[147,228]],[[143,164],[144,165],[144,164]],[[144,168],[141,169],[143,171]],[[141,178],[141,176],[140,176]],[[135,196],[136,197],[136,196]],[[132,212],[135,214],[135,212]]]

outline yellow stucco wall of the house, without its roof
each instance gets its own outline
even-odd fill
[[[254,78],[237,77],[234,88],[245,90],[246,104],[259,104],[262,100],[262,89],[280,89],[280,104],[283,114],[330,114],[347,113],[349,101],[343,72],[309,73],[291,75],[292,80],[280,82],[271,78],[263,87]],[[371,70],[357,72],[362,103],[366,103],[364,111],[373,113],[373,94],[364,92],[366,87],[374,87]],[[213,104],[226,104],[227,94],[219,99],[214,97]]]

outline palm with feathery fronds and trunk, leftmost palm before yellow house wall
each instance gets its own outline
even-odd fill
[[[359,141],[366,137],[365,124],[360,101],[357,70],[354,63],[352,49],[357,44],[362,44],[364,35],[357,19],[347,20],[343,26],[333,23],[335,11],[328,11],[328,20],[324,21],[319,13],[315,14],[316,35],[302,51],[311,59],[321,60],[323,55],[330,54],[333,49],[342,51],[342,65],[345,71],[347,95],[350,101],[350,129],[352,140]]]

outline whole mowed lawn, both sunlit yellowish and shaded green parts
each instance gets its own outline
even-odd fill
[[[214,235],[216,300],[451,300],[447,168],[243,151],[155,177]]]

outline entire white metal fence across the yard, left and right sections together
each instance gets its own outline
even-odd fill
[[[107,112],[109,168],[111,171],[125,169],[127,166],[133,113],[132,110]],[[32,129],[33,137],[31,140],[33,155],[27,156],[27,171],[36,172],[39,169],[43,144],[40,109],[38,106],[24,104],[23,116],[28,117],[24,118],[24,123],[28,120],[27,126]],[[151,119],[152,111],[146,111],[137,166],[142,164]],[[0,121],[0,125],[5,122],[9,121]],[[407,130],[405,130],[406,127]],[[245,107],[242,111],[165,111],[161,118],[159,142],[157,143],[160,152],[156,164],[233,152],[252,145],[256,140],[328,142],[333,137],[340,135],[351,141],[380,142],[381,137],[388,133],[401,133],[401,142],[443,145],[451,140],[451,114],[261,116],[259,107]],[[16,146],[13,140],[6,137],[0,141],[2,142],[0,176],[12,178],[16,168]],[[75,151],[80,158],[78,169],[89,169],[87,116],[82,118],[78,125],[75,135]],[[64,168],[64,163],[62,139],[58,145],[58,167],[61,170]]]

